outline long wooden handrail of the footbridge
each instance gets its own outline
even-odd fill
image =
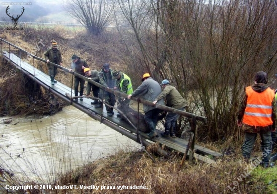
[[[39,61],[42,61],[42,62],[45,62],[45,63],[46,63],[46,60],[45,60],[45,59],[42,59],[42,58],[40,58],[40,57],[37,57],[37,56],[35,56],[35,55],[33,55],[33,54],[31,54],[31,53],[25,51],[24,49],[21,49],[20,47],[18,47],[18,46],[16,46],[16,45],[14,45],[14,44],[12,44],[12,43],[10,43],[10,42],[8,42],[8,41],[2,39],[2,38],[0,38],[0,41],[1,41],[1,42],[0,42],[0,44],[1,44],[1,54],[2,54],[2,41],[3,41],[3,42],[5,42],[5,43],[7,43],[7,44],[13,46],[14,48],[19,49],[20,52],[23,51],[23,52],[27,53],[28,55],[32,56],[34,59],[37,59],[37,60],[39,60]],[[10,52],[10,51],[9,51],[9,52]],[[85,76],[83,76],[83,75],[81,75],[81,74],[79,74],[79,73],[76,73],[76,72],[73,72],[73,71],[70,72],[70,69],[67,69],[67,68],[65,68],[65,67],[63,67],[63,66],[57,65],[57,64],[52,63],[52,62],[49,62],[49,63],[50,63],[51,65],[56,66],[56,67],[59,68],[59,69],[62,69],[62,70],[65,71],[65,72],[72,73],[73,75],[78,76],[78,77],[80,77],[80,78],[82,78],[82,79],[84,79],[84,80],[86,80],[86,81],[88,81],[88,82],[90,82],[90,83],[92,83],[92,84],[94,84],[94,85],[100,87],[101,89],[103,89],[103,90],[105,90],[105,91],[108,91],[108,92],[110,92],[110,93],[114,93],[114,94],[119,95],[119,96],[121,96],[121,97],[123,97],[123,98],[127,98],[127,94],[125,94],[125,93],[123,93],[123,92],[120,92],[120,91],[117,91],[117,90],[114,90],[114,89],[110,89],[110,88],[106,88],[105,86],[101,85],[100,83],[97,83],[96,81],[93,81],[93,80],[91,80],[91,79],[88,79],[87,77],[85,77]],[[34,64],[33,64],[33,65],[34,65]],[[35,76],[35,75],[34,75],[34,76]],[[148,106],[152,106],[152,107],[161,109],[161,110],[163,110],[163,111],[170,111],[170,112],[173,112],[173,113],[176,113],[176,114],[179,114],[179,115],[188,117],[188,118],[194,118],[194,119],[196,119],[196,120],[198,120],[198,121],[206,122],[206,118],[205,118],[205,117],[201,117],[201,116],[198,116],[198,115],[195,115],[195,114],[192,114],[192,113],[180,111],[180,110],[178,110],[178,109],[174,109],[174,108],[167,107],[167,106],[163,106],[163,105],[159,105],[159,104],[153,105],[153,103],[150,102],[150,101],[146,101],[146,100],[143,100],[143,99],[140,99],[140,98],[135,98],[135,97],[133,97],[133,96],[131,97],[131,100],[136,101],[136,102],[138,102],[138,103],[142,103],[142,104],[145,104],[145,105],[148,105]]]

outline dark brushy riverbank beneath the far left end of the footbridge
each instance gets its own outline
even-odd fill
[[[32,80],[7,61],[0,60],[0,116],[51,115],[66,105],[52,93],[35,87]],[[17,71],[15,76],[9,74],[11,69]]]

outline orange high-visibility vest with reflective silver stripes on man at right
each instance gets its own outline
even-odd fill
[[[274,91],[269,87],[258,93],[251,86],[246,87],[247,105],[242,122],[250,126],[265,127],[272,125],[271,103],[274,99]]]

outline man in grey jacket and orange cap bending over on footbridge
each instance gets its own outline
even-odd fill
[[[157,96],[162,92],[160,84],[155,81],[149,73],[145,73],[142,78],[143,83],[136,88],[131,94],[128,95],[128,99],[131,96],[142,96],[146,101],[153,102]],[[165,105],[164,101],[159,101],[158,104]],[[162,111],[156,109],[155,107],[144,105],[144,118],[150,129],[150,133],[147,135],[150,138],[156,137],[158,134],[156,132],[156,126],[158,122],[158,116]]]

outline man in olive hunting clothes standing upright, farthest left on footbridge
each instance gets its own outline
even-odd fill
[[[48,74],[51,79],[51,84],[54,85],[57,81],[55,80],[55,76],[57,74],[57,67],[54,65],[51,65],[51,63],[55,63],[57,65],[62,65],[62,58],[59,49],[57,48],[58,44],[56,41],[51,41],[51,47],[49,47],[44,52],[44,58],[47,62],[48,67]]]

